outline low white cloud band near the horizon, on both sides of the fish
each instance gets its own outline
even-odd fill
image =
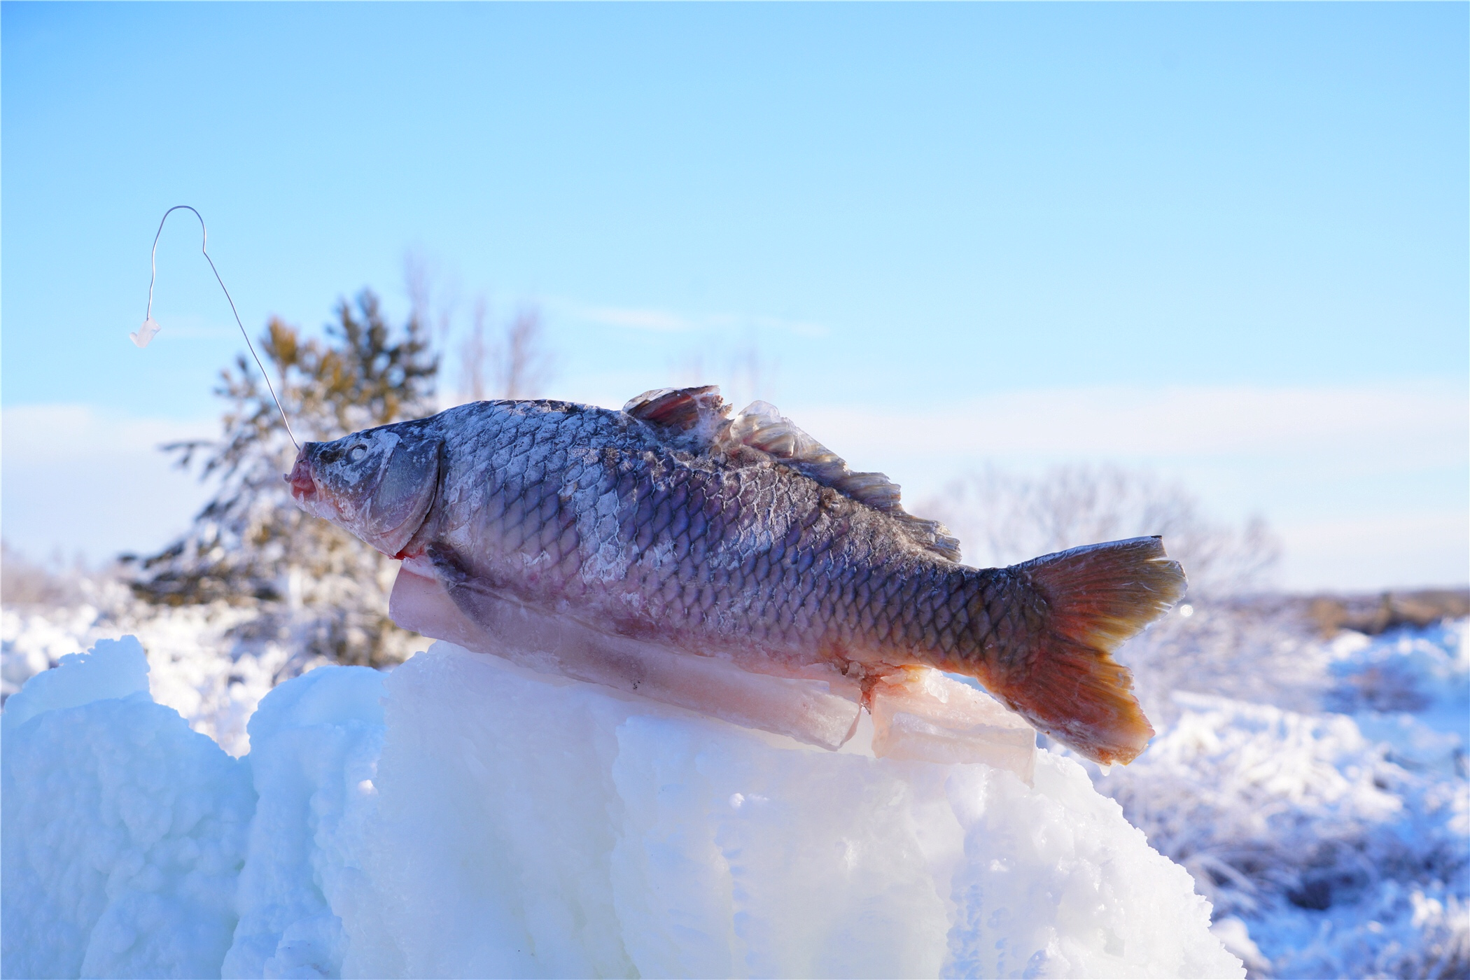
[[[650,379],[584,379],[556,394],[614,406]],[[1222,517],[1264,511],[1286,541],[1288,588],[1376,589],[1467,574],[1464,480],[1454,473],[1470,472],[1470,413],[1454,385],[1058,388],[922,408],[782,408],[857,469],[898,479],[914,504],[986,463],[1142,463],[1183,478]],[[206,498],[157,447],[210,438],[215,420],[131,419],[72,404],[4,408],[0,423],[4,533],[32,552],[153,550]]]

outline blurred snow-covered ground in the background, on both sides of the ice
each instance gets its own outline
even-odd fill
[[[237,610],[154,613],[88,588],[65,608],[3,610],[4,693],[134,633],[153,699],[250,751],[245,721],[287,651],[231,655]],[[1125,652],[1158,736],[1126,768],[1089,767],[1094,785],[1194,876],[1252,976],[1466,976],[1467,623],[1320,641],[1264,607],[1189,611]]]

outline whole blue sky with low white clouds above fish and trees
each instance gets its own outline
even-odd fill
[[[178,215],[126,339],[190,203],[251,332],[401,313],[415,251],[541,306],[553,395],[754,345],[910,498],[1116,460],[1263,513],[1283,585],[1463,582],[1467,12],[6,3],[4,533],[100,557],[197,502],[148,441],[240,341]]]

